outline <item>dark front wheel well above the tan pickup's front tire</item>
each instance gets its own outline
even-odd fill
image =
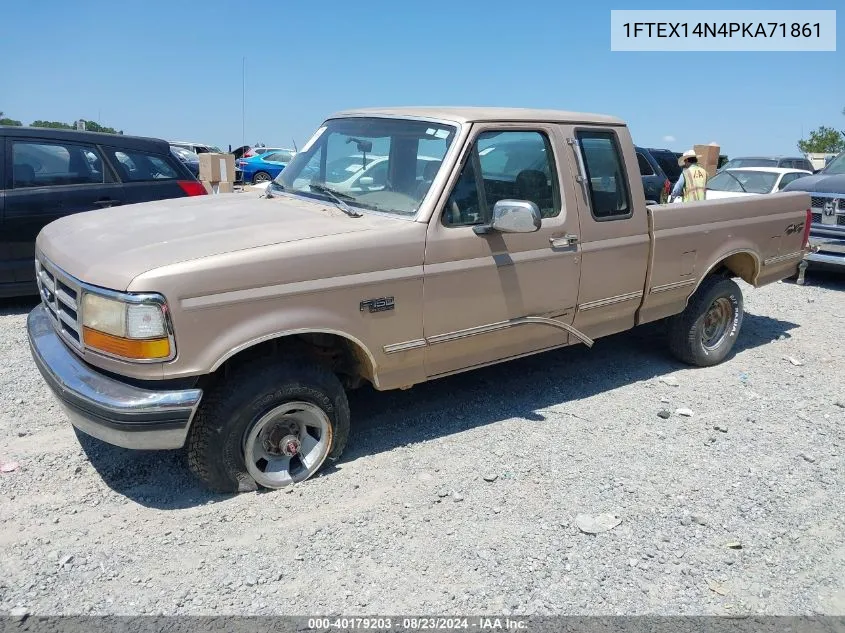
[[[317,361],[337,374],[347,389],[375,381],[373,362],[363,347],[340,334],[323,332],[289,334],[257,343],[227,359],[216,373],[225,375],[236,367],[274,356]]]

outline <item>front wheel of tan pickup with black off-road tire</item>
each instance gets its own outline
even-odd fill
[[[188,435],[188,466],[214,492],[284,488],[337,461],[349,436],[349,417],[343,386],[319,365],[309,360],[245,365],[203,397]],[[302,429],[288,428],[292,425]],[[287,467],[272,475],[260,472],[256,459],[262,454],[266,464]]]

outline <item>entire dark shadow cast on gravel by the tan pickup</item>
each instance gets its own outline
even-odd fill
[[[746,313],[734,353],[789,336],[796,327]],[[542,420],[538,410],[683,368],[688,366],[667,351],[664,326],[651,324],[599,339],[592,349],[573,346],[544,352],[409,391],[362,388],[349,396],[352,430],[341,463],[513,417]],[[491,393],[499,402],[491,402]],[[174,510],[232,496],[202,488],[188,471],[181,451],[129,451],[82,433],[78,436],[105,483],[141,505]],[[335,466],[327,467],[322,474],[331,476],[335,470]]]

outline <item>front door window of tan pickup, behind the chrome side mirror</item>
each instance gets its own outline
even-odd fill
[[[489,222],[499,200],[530,200],[543,218],[560,214],[560,188],[551,143],[539,131],[482,132],[444,209],[445,226]]]

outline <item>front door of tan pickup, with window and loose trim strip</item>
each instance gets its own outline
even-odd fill
[[[429,222],[424,279],[426,372],[444,375],[566,345],[578,297],[577,202],[551,124],[484,124]],[[496,201],[531,200],[533,233],[476,233]],[[539,317],[539,318],[537,318]]]

